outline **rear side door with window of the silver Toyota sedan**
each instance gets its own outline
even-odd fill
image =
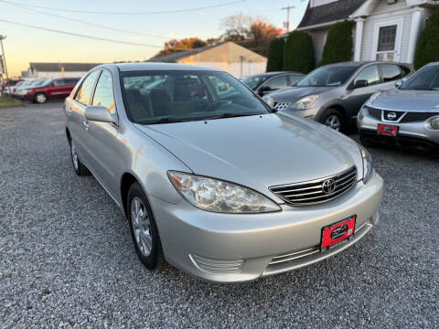
[[[85,120],[84,111],[91,103],[91,94],[101,70],[92,71],[80,84],[73,100],[70,101],[68,113],[68,126],[72,142],[75,144],[80,161],[90,168],[90,147],[86,143],[86,134],[89,123]],[[91,168],[90,168],[91,169]]]

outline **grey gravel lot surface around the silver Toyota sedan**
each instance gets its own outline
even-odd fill
[[[0,110],[0,328],[437,327],[439,160],[371,154],[386,191],[365,239],[305,269],[213,285],[145,270],[123,214],[70,167],[59,102]]]

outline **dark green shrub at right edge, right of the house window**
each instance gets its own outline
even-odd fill
[[[414,69],[439,61],[439,9],[436,9],[419,37],[414,56]]]

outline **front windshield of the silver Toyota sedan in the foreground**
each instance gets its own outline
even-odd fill
[[[130,119],[154,124],[266,114],[270,108],[239,80],[216,71],[121,73]]]

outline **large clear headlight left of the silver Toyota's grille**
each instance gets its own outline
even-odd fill
[[[220,213],[263,213],[280,211],[271,199],[250,188],[200,175],[169,171],[171,183],[188,203]]]

